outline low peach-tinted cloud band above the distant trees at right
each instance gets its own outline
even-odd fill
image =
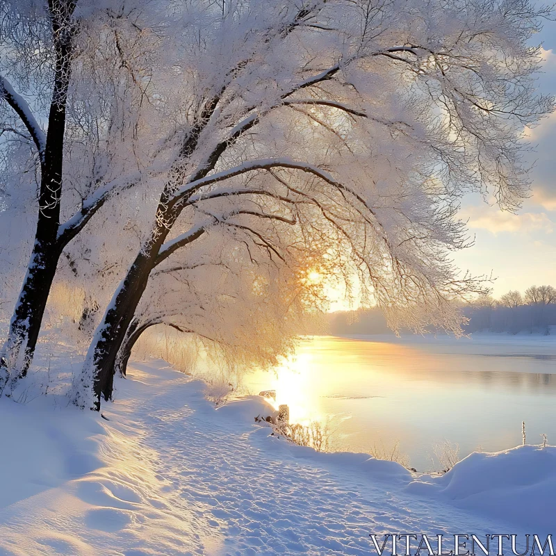
[[[485,229],[492,234],[500,232],[543,232],[552,234],[556,223],[546,213],[513,214],[491,206],[468,206],[461,211],[471,229]]]

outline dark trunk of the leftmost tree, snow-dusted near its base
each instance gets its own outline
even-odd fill
[[[67,90],[70,83],[74,1],[49,0],[55,51],[54,84],[47,140],[41,156],[39,213],[27,275],[0,358],[0,394],[8,378],[15,384],[33,359],[44,309],[63,245],[58,240]],[[23,350],[23,352],[22,352]]]

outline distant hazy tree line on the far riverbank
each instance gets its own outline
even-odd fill
[[[549,334],[556,325],[556,288],[531,286],[522,294],[511,290],[500,299],[482,295],[462,308],[468,319],[465,332],[529,332]],[[338,336],[391,334],[378,309],[338,311],[329,316],[329,330]]]

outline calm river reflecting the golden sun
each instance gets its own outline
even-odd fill
[[[434,446],[445,440],[460,457],[518,445],[522,421],[528,443],[556,443],[555,336],[318,336],[245,386],[275,389],[293,421],[332,417],[336,449],[398,443],[418,471],[439,468]]]

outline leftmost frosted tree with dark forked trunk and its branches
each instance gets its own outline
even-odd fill
[[[146,101],[158,40],[154,10],[151,27],[136,23],[141,4],[1,3],[3,218],[24,237],[17,206],[33,206],[37,220],[0,354],[0,393],[31,363],[63,250],[106,199],[156,176],[172,134],[167,113]]]

